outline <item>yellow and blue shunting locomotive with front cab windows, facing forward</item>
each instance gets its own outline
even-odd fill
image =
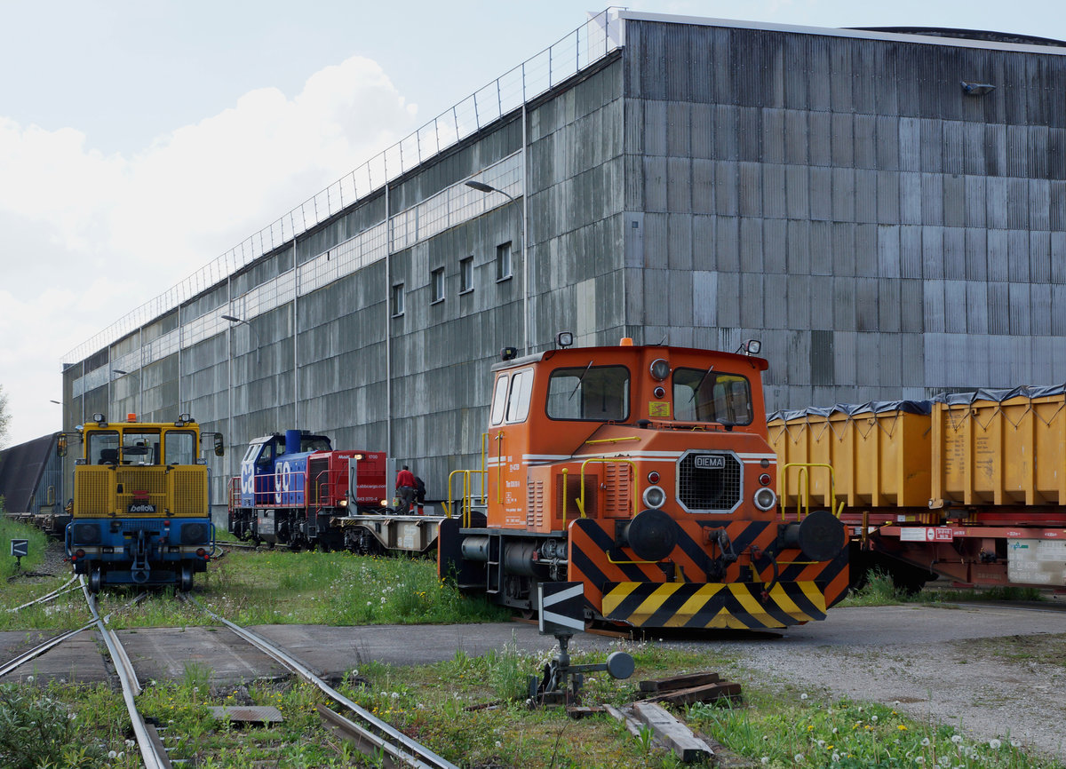
[[[214,551],[209,473],[189,414],[172,423],[108,422],[79,427],[67,558],[97,592],[104,585],[175,585],[190,590]],[[214,453],[223,454],[221,433]],[[65,437],[60,453],[66,453]]]

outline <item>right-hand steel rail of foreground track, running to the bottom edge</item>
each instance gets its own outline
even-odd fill
[[[413,740],[392,724],[383,721],[366,708],[360,707],[355,702],[344,697],[311,672],[311,670],[304,666],[303,662],[288,654],[285,650],[271,643],[262,636],[259,636],[247,628],[241,627],[240,625],[233,624],[229,620],[220,617],[191,595],[184,595],[183,600],[191,601],[201,611],[224,624],[240,638],[254,645],[263,654],[277,660],[304,681],[318,687],[318,689],[330,700],[349,708],[362,721],[370,725],[370,729],[368,729],[367,726],[360,725],[351,719],[344,718],[343,716],[337,716],[337,718],[342,722],[346,722],[343,723],[345,731],[364,736],[369,742],[373,743],[375,747],[379,747],[392,758],[402,762],[407,766],[417,767],[417,769],[458,769],[458,767],[454,764],[437,755],[425,746]],[[338,722],[335,721],[335,723]]]

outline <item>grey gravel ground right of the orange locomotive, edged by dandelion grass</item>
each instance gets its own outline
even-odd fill
[[[858,633],[823,633],[845,621]],[[968,737],[1017,739],[1031,754],[1066,763],[1066,612],[844,608],[830,611],[823,627],[807,627],[779,642],[726,645],[739,666],[785,696],[894,705]]]

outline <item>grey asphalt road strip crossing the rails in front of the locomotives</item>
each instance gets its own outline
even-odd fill
[[[527,652],[550,650],[555,639],[542,636],[534,624],[504,622],[484,625],[264,625],[255,632],[285,648],[324,676],[340,676],[368,660],[391,665],[424,665],[451,659],[456,652],[477,656],[514,643]],[[971,638],[1066,633],[1066,612],[1045,608],[999,606],[882,606],[831,609],[824,622],[779,634],[669,634],[661,642],[707,652],[750,653],[764,650],[802,655],[813,650],[860,650],[877,647],[937,644]],[[224,627],[147,628],[119,631],[118,636],[143,681],[180,678],[187,667],[210,670],[212,684],[236,685],[255,678],[279,678],[286,671]],[[0,633],[0,658],[12,659],[48,634]],[[608,650],[612,637],[581,633],[571,651]],[[85,631],[45,655],[27,662],[0,682],[37,680],[106,682],[102,643]]]

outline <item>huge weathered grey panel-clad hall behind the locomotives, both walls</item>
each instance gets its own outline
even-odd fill
[[[440,498],[561,330],[760,339],[770,408],[1062,382],[1064,54],[604,12],[71,350],[64,425],[190,412],[216,505],[287,428]]]

